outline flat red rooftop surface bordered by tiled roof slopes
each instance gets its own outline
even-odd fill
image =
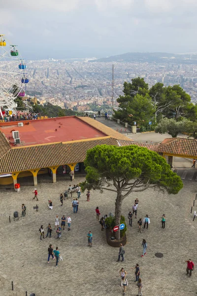
[[[23,126],[18,126],[19,122],[23,122]],[[76,116],[0,123],[0,131],[10,140],[12,145],[14,145],[14,141],[11,141],[14,130],[19,131],[21,141],[17,146],[79,141],[108,136]]]

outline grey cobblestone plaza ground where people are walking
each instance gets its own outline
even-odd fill
[[[83,178],[84,179],[84,178]],[[82,181],[77,177],[72,184]],[[21,192],[0,190],[0,266],[1,272],[9,276],[36,296],[109,296],[122,295],[119,270],[123,266],[128,272],[127,294],[137,295],[134,283],[135,263],[139,263],[144,296],[194,296],[197,293],[196,271],[191,278],[186,276],[185,260],[192,258],[197,264],[197,219],[193,222],[190,209],[196,194],[195,182],[184,182],[184,188],[177,195],[146,190],[128,196],[123,202],[123,214],[127,217],[135,197],[139,199],[138,217],[150,216],[148,230],[138,233],[137,220],[128,225],[128,243],[125,246],[125,262],[116,262],[118,249],[107,245],[105,232],[100,230],[95,208],[101,214],[114,212],[113,192],[91,192],[90,202],[85,194],[79,199],[79,211],[72,213],[71,199],[60,205],[59,194],[64,192],[69,181],[57,184],[37,185],[39,211],[33,210],[36,201],[32,200],[33,186],[23,185]],[[76,196],[76,194],[75,194]],[[48,208],[48,199],[54,203]],[[13,221],[13,212],[19,211],[21,204],[27,206],[26,217]],[[197,207],[195,207],[197,208]],[[193,210],[195,210],[195,208]],[[40,241],[38,229],[41,224],[46,229],[55,216],[69,214],[71,231],[65,229],[60,240],[45,238]],[[166,215],[166,227],[161,227],[161,217]],[[11,223],[9,223],[11,215]],[[93,233],[93,248],[87,247],[87,233]],[[55,232],[55,231],[53,231]],[[148,243],[147,255],[141,258],[141,241]],[[58,246],[63,261],[55,268],[55,260],[47,264],[49,244]],[[156,258],[155,253],[163,253]],[[0,296],[4,296],[0,292]]]

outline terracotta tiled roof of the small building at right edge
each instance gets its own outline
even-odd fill
[[[158,146],[157,152],[190,155],[197,157],[197,140],[185,138],[166,139]]]

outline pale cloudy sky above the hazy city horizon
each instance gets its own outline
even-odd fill
[[[197,51],[197,0],[0,0],[0,34],[28,59]]]

